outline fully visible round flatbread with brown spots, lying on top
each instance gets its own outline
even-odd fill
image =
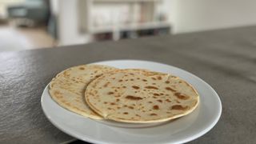
[[[118,122],[165,122],[190,114],[198,93],[170,74],[114,70],[87,86],[86,102],[103,118]]]

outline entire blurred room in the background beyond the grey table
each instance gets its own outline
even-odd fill
[[[0,52],[252,25],[254,0],[0,0]]]

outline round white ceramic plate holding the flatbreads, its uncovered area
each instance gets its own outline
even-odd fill
[[[95,62],[118,68],[142,68],[174,74],[190,82],[200,95],[200,104],[191,114],[158,126],[125,128],[106,125],[63,109],[48,93],[42,93],[42,110],[46,117],[66,134],[92,143],[184,143],[206,134],[218,122],[222,104],[218,94],[202,79],[185,70],[157,62],[115,60]]]

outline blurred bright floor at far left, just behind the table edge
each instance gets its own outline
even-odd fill
[[[54,45],[54,38],[51,38],[43,27],[0,25],[0,52],[47,48]]]

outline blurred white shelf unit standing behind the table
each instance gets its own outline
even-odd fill
[[[79,30],[93,41],[95,34],[111,34],[118,40],[122,31],[168,29],[168,19],[157,14],[159,2],[162,0],[79,0]]]

